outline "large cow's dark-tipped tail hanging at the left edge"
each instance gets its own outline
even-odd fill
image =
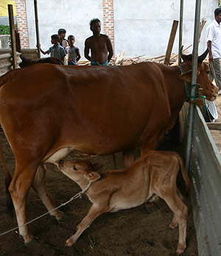
[[[1,148],[1,139],[0,139],[0,162],[3,166],[4,175],[5,175],[5,187],[6,187],[6,194],[7,194],[7,203],[6,203],[7,212],[11,216],[13,216],[13,209],[14,209],[13,200],[12,200],[11,195],[10,195],[9,190],[8,190],[8,187],[9,187],[10,182],[12,180],[12,176],[10,175],[9,170],[7,170],[7,167],[6,167],[4,159],[3,159],[2,148]]]

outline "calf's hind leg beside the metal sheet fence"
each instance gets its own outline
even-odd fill
[[[178,195],[175,193],[166,193],[162,196],[168,204],[169,208],[175,213],[175,216],[170,224],[170,227],[175,225],[175,222],[178,221],[179,226],[179,241],[176,254],[180,255],[184,252],[186,248],[186,218],[187,218],[187,206],[180,200]]]

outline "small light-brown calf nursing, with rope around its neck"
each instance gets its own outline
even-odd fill
[[[145,201],[154,201],[156,196],[159,196],[175,213],[169,227],[174,229],[175,226],[179,226],[176,253],[183,253],[186,248],[188,210],[186,204],[180,200],[183,196],[176,186],[179,170],[181,170],[186,182],[188,192],[190,182],[183,160],[178,153],[149,151],[130,167],[124,170],[108,170],[101,176],[94,171],[96,164],[91,165],[91,162],[86,160],[60,161],[58,168],[70,179],[77,182],[92,202],[88,215],[77,226],[77,232],[66,241],[66,246],[72,246],[73,243],[76,243],[82,232],[102,213],[136,207]]]

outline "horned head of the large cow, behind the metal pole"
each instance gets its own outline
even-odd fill
[[[203,52],[202,55],[198,57],[198,65],[197,65],[197,83],[200,84],[200,88],[203,89],[203,95],[206,96],[207,100],[216,100],[218,96],[218,88],[211,83],[209,79],[209,66],[207,63],[203,62],[208,54],[208,49],[206,52]],[[192,55],[184,55],[183,54],[183,46],[180,49],[180,56],[183,59],[183,63],[189,63],[189,70],[180,75],[180,79],[191,83],[192,81]]]

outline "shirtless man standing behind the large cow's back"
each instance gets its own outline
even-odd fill
[[[91,61],[91,66],[108,66],[113,56],[113,48],[108,35],[100,34],[101,26],[98,18],[90,21],[93,35],[85,40],[85,58]],[[89,51],[91,49],[91,56]]]

